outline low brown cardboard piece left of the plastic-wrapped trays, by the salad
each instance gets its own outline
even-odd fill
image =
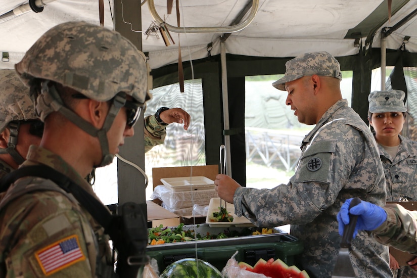
[[[179,225],[179,217],[160,205],[146,201],[148,212],[148,227],[157,227],[160,224],[164,226],[176,227]]]

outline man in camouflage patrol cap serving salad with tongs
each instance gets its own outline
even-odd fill
[[[298,121],[315,127],[288,184],[273,189],[241,187],[226,175],[214,183],[219,197],[235,204],[237,216],[257,226],[291,224],[304,243],[301,268],[310,277],[331,277],[340,249],[336,215],[343,202],[360,197],[385,204],[385,177],[369,128],[342,99],[339,62],[327,52],[300,55],[286,63],[273,86],[288,92],[286,104]],[[350,250],[356,277],[391,277],[388,248],[359,233]]]

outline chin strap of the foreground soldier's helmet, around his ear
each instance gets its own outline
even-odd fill
[[[111,154],[109,150],[107,131],[112,126],[117,113],[119,113],[119,110],[124,106],[126,102],[126,95],[124,93],[119,93],[113,98],[113,102],[110,106],[109,112],[107,113],[103,127],[101,129],[97,129],[92,124],[78,116],[75,112],[65,107],[55,85],[49,86],[49,82],[50,81],[42,82],[42,94],[38,97],[36,110],[43,110],[44,106],[47,106],[51,112],[56,111],[61,113],[65,118],[70,120],[73,124],[91,136],[98,137],[102,150],[102,161],[99,165],[94,165],[94,167],[103,167],[112,163],[114,154]]]

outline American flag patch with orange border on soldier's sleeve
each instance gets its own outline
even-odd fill
[[[85,260],[77,235],[59,240],[35,252],[35,256],[45,275],[50,275],[76,262]]]

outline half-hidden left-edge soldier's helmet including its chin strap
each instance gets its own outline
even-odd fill
[[[17,164],[24,161],[16,151],[20,121],[29,120],[39,120],[29,96],[29,88],[22,83],[14,70],[0,70],[0,132],[6,127],[10,130],[7,149],[0,149],[0,154],[10,154]]]

